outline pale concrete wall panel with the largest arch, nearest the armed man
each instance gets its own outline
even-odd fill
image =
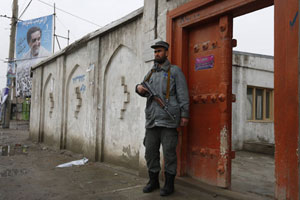
[[[141,59],[141,18],[101,38],[99,155],[102,160],[139,167],[144,132],[144,99],[135,85],[145,73]],[[143,158],[143,157],[142,157]]]

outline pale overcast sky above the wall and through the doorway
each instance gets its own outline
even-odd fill
[[[0,15],[12,15],[12,1],[0,0]],[[30,0],[19,0],[19,15]],[[44,3],[42,3],[44,2]],[[30,20],[54,13],[56,10],[56,34],[67,36],[70,30],[70,43],[93,32],[112,21],[118,20],[140,8],[144,0],[33,0],[22,15],[21,20]],[[62,12],[67,11],[86,20],[78,19]],[[5,87],[10,19],[0,17],[0,88]],[[237,47],[233,50],[273,55],[274,53],[274,7],[268,7],[234,19],[233,38],[237,39]],[[59,39],[64,48],[67,41]],[[55,51],[59,50],[56,45]]]

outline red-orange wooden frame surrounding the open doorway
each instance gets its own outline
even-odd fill
[[[234,18],[272,5],[274,5],[275,11],[275,198],[298,199],[300,190],[300,169],[298,168],[298,154],[300,154],[299,0],[192,0],[167,13],[166,39],[170,44],[170,61],[180,66],[183,73],[187,75],[188,60],[185,56],[185,52],[188,50],[185,42],[187,40],[187,31],[185,30],[187,27],[221,15],[230,14]],[[200,10],[201,12],[197,13]],[[182,19],[182,23],[179,29],[175,29],[174,25],[178,18]],[[175,33],[178,35],[176,39]],[[285,66],[290,66],[289,70],[285,70]],[[286,103],[287,100],[291,103]],[[293,118],[287,118],[282,114],[286,110],[291,113]],[[184,176],[186,172],[187,137],[187,128],[182,128],[178,141],[179,176]]]

